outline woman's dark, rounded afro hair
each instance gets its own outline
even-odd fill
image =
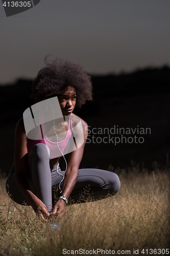
[[[38,72],[32,83],[30,97],[35,102],[58,96],[67,86],[75,88],[76,106],[79,108],[86,100],[92,100],[91,77],[83,71],[83,67],[61,58],[48,61],[47,57],[44,59],[46,66]]]

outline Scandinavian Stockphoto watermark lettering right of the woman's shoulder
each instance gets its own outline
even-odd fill
[[[119,127],[114,125],[111,128],[91,127],[88,126],[88,137],[86,143],[143,143],[143,135],[151,134],[151,128],[136,127]]]

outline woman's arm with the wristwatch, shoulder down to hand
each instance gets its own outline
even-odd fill
[[[88,136],[88,125],[83,120],[81,120],[81,122],[82,122],[82,127],[83,127],[84,143],[79,148],[77,148],[77,150],[75,150],[69,154],[67,170],[65,173],[64,181],[63,181],[61,196],[64,196],[67,199],[76,184],[77,176],[78,176],[78,172],[79,172],[79,165],[80,165],[80,162],[83,157],[84,146],[85,146],[86,139]],[[65,214],[65,205],[66,204],[65,204],[64,200],[59,199],[59,201],[55,204],[54,214],[57,212],[57,214],[60,214],[60,216],[64,215]]]

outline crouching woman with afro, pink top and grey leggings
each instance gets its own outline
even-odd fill
[[[114,173],[79,169],[88,125],[72,112],[92,100],[90,77],[80,65],[66,60],[48,62],[45,58],[45,63],[32,84],[31,98],[36,104],[16,125],[14,164],[6,183],[9,196],[16,203],[31,205],[42,219],[51,214],[62,216],[69,196],[77,202],[88,185],[94,200],[116,194],[120,187]],[[29,132],[32,120],[35,127]],[[61,171],[59,159],[66,153],[66,171]],[[51,213],[54,188],[59,188],[58,201]]]

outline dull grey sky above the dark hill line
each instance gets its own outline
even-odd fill
[[[0,3],[0,83],[33,78],[47,54],[90,74],[170,65],[169,0],[41,0],[6,17]]]

